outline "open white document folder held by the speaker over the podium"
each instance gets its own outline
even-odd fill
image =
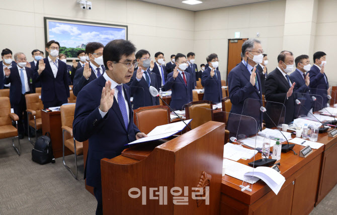
[[[191,120],[185,120],[184,122],[186,124],[189,124]],[[147,137],[135,140],[129,144],[126,144],[125,146],[171,137],[172,135],[175,135],[178,132],[183,131],[184,128],[186,127],[185,123],[180,121],[177,123],[170,123],[162,126],[157,126],[152,131],[150,131],[150,133],[147,134]]]

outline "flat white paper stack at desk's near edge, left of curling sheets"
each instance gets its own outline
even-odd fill
[[[248,183],[251,183],[251,184],[254,184],[258,180],[260,180],[257,177],[251,177],[251,176],[246,177],[244,175],[244,173],[254,171],[254,168],[252,168],[250,166],[247,166],[247,165],[244,165],[244,164],[241,164],[241,163],[238,163],[236,161],[223,159],[222,168],[225,168],[225,174],[226,175],[232,176],[232,177],[237,178],[237,179],[242,180],[242,181],[247,181]],[[275,171],[275,170],[273,170],[273,171]]]

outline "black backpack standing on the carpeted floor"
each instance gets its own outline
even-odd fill
[[[32,149],[32,160],[39,164],[55,163],[49,132],[36,140]]]

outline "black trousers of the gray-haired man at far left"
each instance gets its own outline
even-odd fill
[[[18,115],[18,132],[20,135],[24,135],[28,132],[28,119],[27,119],[27,107],[26,98],[24,94],[21,94],[21,99],[19,104],[13,104],[14,113]]]

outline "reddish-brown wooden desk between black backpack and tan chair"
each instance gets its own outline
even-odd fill
[[[42,134],[50,133],[51,143],[53,146],[53,154],[55,158],[62,157],[63,154],[63,141],[62,141],[62,123],[61,112],[44,112],[41,111],[42,120]],[[64,148],[64,155],[73,154],[68,148]]]

